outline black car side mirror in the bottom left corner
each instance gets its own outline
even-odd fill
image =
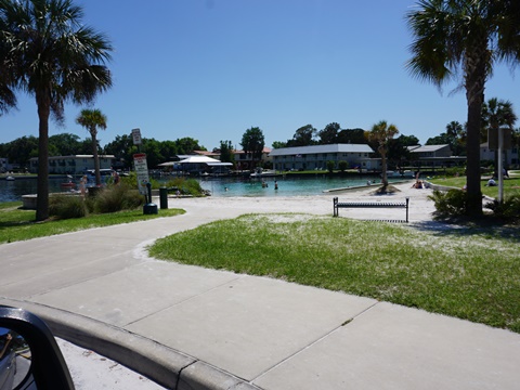
[[[74,390],[65,360],[46,323],[0,306],[0,389]]]

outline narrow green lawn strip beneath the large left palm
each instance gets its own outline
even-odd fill
[[[36,211],[23,210],[21,202],[0,204],[0,244],[46,237],[55,234],[76,232],[92,227],[143,221],[158,217],[172,217],[184,213],[180,209],[158,210],[158,214],[143,214],[143,210],[120,211],[104,214],[90,214],[86,218],[35,222]]]

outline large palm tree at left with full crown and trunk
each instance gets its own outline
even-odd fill
[[[0,86],[38,107],[38,221],[49,217],[49,118],[63,122],[65,103],[92,102],[112,86],[112,46],[82,15],[70,0],[0,0]]]

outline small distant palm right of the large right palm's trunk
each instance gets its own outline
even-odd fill
[[[493,133],[497,134],[498,131],[504,131],[506,129],[512,130],[516,121],[517,115],[512,109],[512,103],[509,101],[499,101],[496,98],[492,98],[487,103],[482,105],[482,122],[484,125],[484,130],[491,130]],[[487,135],[487,142],[489,141]],[[504,153],[506,153],[505,150]],[[495,150],[495,177],[498,177],[499,158],[502,158],[502,156],[498,156],[498,151]]]

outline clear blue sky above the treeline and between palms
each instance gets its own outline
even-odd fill
[[[442,93],[405,69],[414,0],[80,0],[84,22],[112,40],[114,88],[94,107],[108,118],[101,144],[140,128],[159,141],[191,136],[208,150],[259,127],[265,145],[308,123],[369,129],[379,120],[421,143],[466,121],[464,91]],[[518,69],[495,69],[485,99],[520,116]],[[517,77],[515,77],[517,76]],[[0,143],[38,135],[34,98],[0,117]],[[70,132],[81,107],[66,107]],[[518,123],[517,123],[518,126]]]

